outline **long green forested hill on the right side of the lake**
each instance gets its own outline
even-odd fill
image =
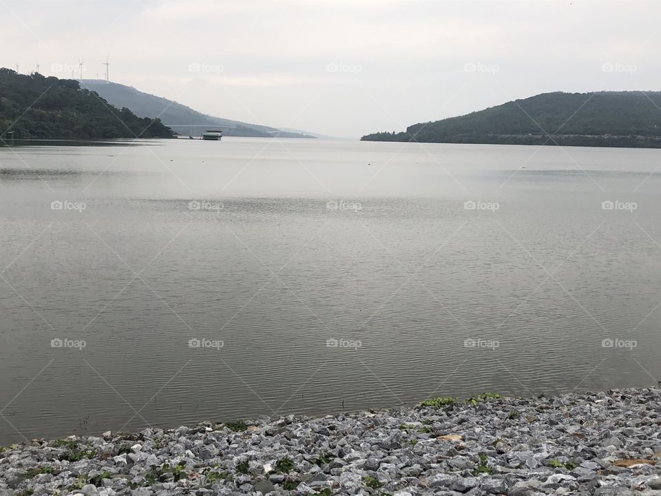
[[[553,135],[553,136],[549,136]],[[364,141],[661,147],[661,92],[545,93]]]

